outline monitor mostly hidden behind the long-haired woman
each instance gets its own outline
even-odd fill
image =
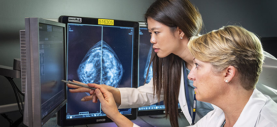
[[[150,34],[147,28],[146,22],[140,22],[140,49],[138,53],[138,86],[144,85],[144,83],[149,83],[149,81],[153,78],[153,70],[152,65],[149,67],[150,57],[152,52],[152,44],[150,43]],[[147,70],[149,68],[148,77]],[[179,106],[179,112],[181,112]],[[163,105],[163,101],[156,103],[150,106],[144,106],[137,108],[137,116],[143,115],[160,115],[165,114],[165,106]]]

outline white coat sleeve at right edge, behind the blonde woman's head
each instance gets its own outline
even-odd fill
[[[277,102],[277,59],[265,51],[264,56],[263,71],[256,87]]]

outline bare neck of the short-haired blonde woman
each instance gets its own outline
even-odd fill
[[[252,93],[253,90],[245,90],[243,87],[235,90],[231,88],[228,94],[221,99],[221,102],[216,104],[225,114],[226,123],[224,126],[233,126],[235,124]]]

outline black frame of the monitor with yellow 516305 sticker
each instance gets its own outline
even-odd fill
[[[81,18],[82,22],[70,22],[68,21],[68,17],[74,18]],[[91,18],[91,17],[80,17],[80,16],[65,16],[62,15],[59,17],[58,21],[61,23],[65,23],[65,31],[67,37],[67,26],[68,23],[75,23],[75,24],[93,24],[99,25],[98,19],[106,19],[106,18]],[[138,53],[138,34],[139,34],[139,24],[135,21],[123,21],[123,20],[114,20],[114,26],[122,26],[122,27],[133,27],[134,28],[134,35],[133,35],[133,80],[132,80],[132,87],[137,87],[137,53]],[[103,26],[110,26],[110,25],[103,25]],[[67,39],[67,38],[66,38]],[[67,40],[66,40],[67,45]],[[131,114],[124,115],[128,119],[136,119],[137,116],[137,109],[132,108]],[[105,122],[112,122],[110,118],[107,116],[99,116],[99,117],[90,117],[90,118],[80,118],[80,119],[66,119],[66,106],[64,106],[57,115],[57,122],[60,126],[71,126],[71,125],[84,125],[84,124],[93,124],[93,123],[105,123]]]

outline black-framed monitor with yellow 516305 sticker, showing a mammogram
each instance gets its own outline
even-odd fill
[[[137,87],[138,22],[60,16],[66,24],[67,79],[113,87]],[[67,104],[58,112],[58,125],[111,122],[101,104],[81,102],[89,93],[67,92]],[[137,109],[120,109],[129,119]]]

